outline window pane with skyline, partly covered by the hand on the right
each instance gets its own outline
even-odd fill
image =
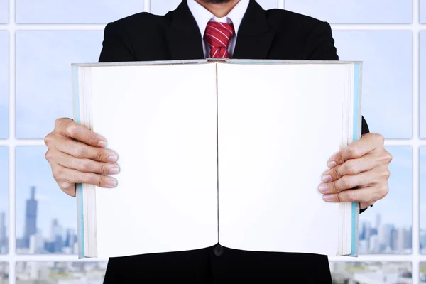
[[[359,217],[359,254],[412,251],[412,151],[410,147],[398,146],[386,150],[393,155],[389,193]]]

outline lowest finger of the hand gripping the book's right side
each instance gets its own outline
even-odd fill
[[[389,187],[371,186],[361,187],[353,190],[344,190],[339,193],[323,195],[322,199],[326,202],[366,202],[372,204],[376,200],[381,200],[388,194]]]

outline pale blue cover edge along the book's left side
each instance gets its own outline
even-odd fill
[[[80,124],[80,92],[79,92],[79,67],[72,66],[72,106],[73,118],[77,124]],[[85,258],[84,253],[84,210],[82,184],[75,185],[75,198],[77,203],[77,243],[78,258]]]

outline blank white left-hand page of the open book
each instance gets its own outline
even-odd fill
[[[92,99],[121,167],[96,188],[98,257],[216,244],[216,65],[94,67]]]

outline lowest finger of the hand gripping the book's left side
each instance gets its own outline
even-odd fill
[[[78,170],[62,167],[62,165],[58,165],[58,167],[55,167],[53,171],[53,176],[60,186],[75,183],[86,183],[88,185],[96,185],[98,187],[115,187],[117,184],[115,178],[111,178],[107,175],[82,173]]]

